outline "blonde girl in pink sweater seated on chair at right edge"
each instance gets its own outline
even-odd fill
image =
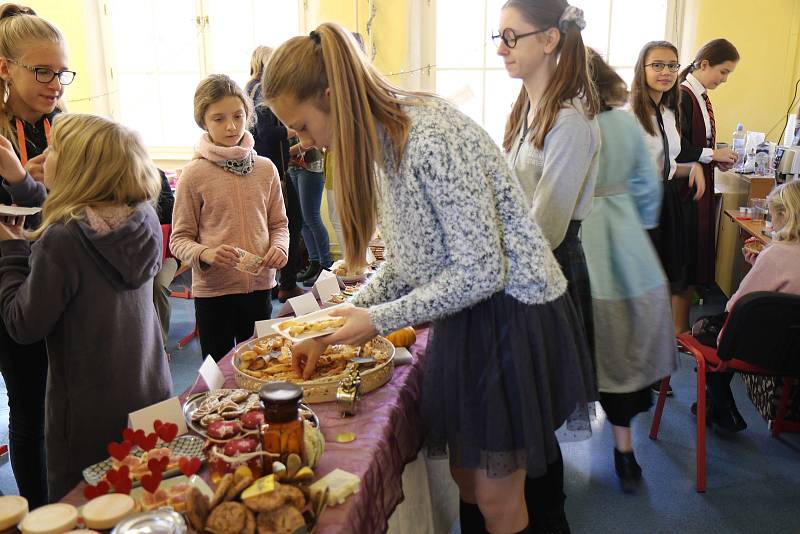
[[[744,295],[755,291],[778,291],[800,295],[800,181],[776,187],[767,197],[775,238],[761,253],[742,249],[745,260],[753,268],[731,296],[725,314],[733,310]],[[724,332],[724,330],[723,330]],[[720,332],[719,338],[722,337]],[[718,339],[719,339],[718,338]],[[711,418],[717,426],[730,432],[747,428],[736,408],[731,393],[733,373],[710,373],[707,377],[711,397]]]

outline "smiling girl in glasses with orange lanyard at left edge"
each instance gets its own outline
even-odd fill
[[[43,180],[50,125],[59,112],[67,70],[61,32],[27,7],[0,6],[0,135],[7,138],[27,175]],[[0,204],[11,204],[25,176],[3,176]],[[24,204],[23,202],[18,202]],[[18,344],[0,328],[0,366],[8,388],[11,466],[20,494],[31,508],[47,502],[44,398],[47,350],[44,341]]]

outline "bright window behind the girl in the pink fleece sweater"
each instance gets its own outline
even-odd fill
[[[300,30],[300,4],[290,0],[107,0],[106,9],[113,114],[161,156],[185,157],[197,141],[200,79],[225,73],[244,86],[253,49]]]

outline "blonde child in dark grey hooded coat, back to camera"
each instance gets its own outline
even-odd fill
[[[32,246],[22,218],[0,224],[0,312],[16,342],[47,341],[47,477],[57,501],[108,457],[130,412],[170,396],[153,306],[161,182],[137,134],[91,115],[56,120],[44,185],[4,137],[0,172],[25,203],[49,189]]]

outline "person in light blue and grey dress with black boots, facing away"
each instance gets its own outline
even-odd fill
[[[631,420],[652,405],[650,385],[675,370],[669,287],[645,231],[658,224],[661,180],[636,119],[620,109],[625,82],[589,50],[602,105],[602,134],[594,207],[583,247],[592,287],[600,404],[614,431],[614,467],[625,492],[635,491],[641,467],[633,453]],[[642,335],[646,332],[647,335]]]

